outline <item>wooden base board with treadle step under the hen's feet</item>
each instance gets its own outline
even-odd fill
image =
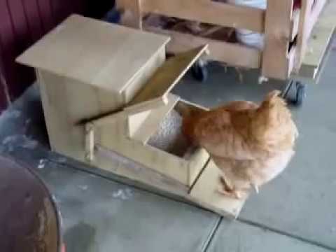
[[[227,218],[237,218],[246,202],[246,198],[237,200],[218,193],[220,170],[212,161],[204,167],[202,174],[188,193],[188,188],[179,186],[179,183],[172,179],[121,157],[106,148],[99,147],[97,158],[98,160],[90,165],[195,203]],[[111,165],[107,165],[106,160],[109,160]],[[116,166],[116,169],[111,169],[113,165]]]

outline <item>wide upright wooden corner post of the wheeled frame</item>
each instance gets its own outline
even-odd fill
[[[268,0],[265,20],[265,49],[262,76],[288,77],[288,46],[291,38],[293,0]]]

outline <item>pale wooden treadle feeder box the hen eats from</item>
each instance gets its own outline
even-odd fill
[[[72,15],[18,62],[36,69],[53,151],[237,217],[245,199],[218,193],[207,151],[185,146],[177,155],[149,143],[173,112],[204,109],[170,91],[207,45],[166,59],[168,41]],[[115,165],[116,155],[130,165]]]

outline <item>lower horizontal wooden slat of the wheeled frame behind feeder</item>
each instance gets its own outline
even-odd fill
[[[211,60],[251,69],[258,69],[261,66],[261,52],[239,43],[216,41],[214,39],[183,34],[177,31],[168,31],[157,27],[144,27],[144,29],[171,36],[171,41],[167,45],[167,52],[179,53],[207,44],[209,45],[210,52],[208,58]]]

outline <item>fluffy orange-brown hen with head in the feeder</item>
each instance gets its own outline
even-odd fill
[[[293,157],[297,127],[279,91],[258,106],[237,101],[184,118],[183,133],[221,169],[219,191],[237,198],[271,181]]]

